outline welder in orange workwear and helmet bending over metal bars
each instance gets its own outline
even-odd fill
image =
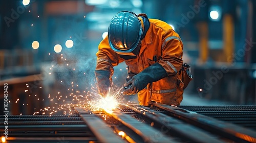
[[[184,83],[183,43],[166,22],[142,13],[120,11],[111,19],[108,36],[98,46],[95,76],[98,92],[105,96],[111,86],[114,66],[127,65],[123,94],[138,95],[140,105],[154,101],[180,105]]]

